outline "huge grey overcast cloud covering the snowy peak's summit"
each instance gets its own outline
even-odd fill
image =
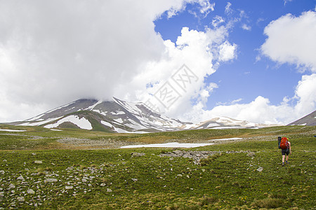
[[[214,6],[206,0],[1,1],[0,121],[82,97],[129,98],[133,81],[172,50],[153,21],[187,3],[202,13]]]

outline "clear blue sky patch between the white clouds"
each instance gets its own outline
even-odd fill
[[[185,10],[172,18],[164,13],[161,18],[154,21],[155,31],[162,38],[176,42],[183,27],[203,31],[204,27],[212,27],[211,22],[216,15],[226,20],[240,18],[230,28],[228,41],[236,43],[237,58],[220,64],[217,71],[207,76],[206,83],[217,83],[207,102],[207,109],[218,104],[230,104],[242,99],[240,102],[249,103],[258,95],[268,97],[271,104],[279,104],[284,97],[294,97],[294,90],[302,73],[298,72],[294,64],[277,64],[267,57],[260,55],[261,45],[265,42],[263,30],[272,21],[283,15],[291,13],[299,16],[304,11],[314,10],[315,1],[214,1],[215,7],[206,17],[196,16],[192,10],[197,5],[187,5]],[[225,7],[231,3],[231,13],[225,14]],[[243,29],[246,25],[249,29]]]

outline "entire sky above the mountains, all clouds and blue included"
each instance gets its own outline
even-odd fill
[[[291,123],[316,109],[315,9],[315,0],[0,0],[0,122],[117,97],[184,121]]]

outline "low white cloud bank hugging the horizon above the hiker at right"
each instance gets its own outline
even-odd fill
[[[291,102],[297,100],[295,106]],[[238,101],[236,101],[238,102]],[[209,111],[200,111],[204,120],[217,116],[248,120],[255,123],[289,124],[298,118],[315,111],[316,105],[316,73],[302,76],[298,82],[295,96],[284,97],[281,104],[270,104],[269,99],[258,96],[249,104],[219,105]]]

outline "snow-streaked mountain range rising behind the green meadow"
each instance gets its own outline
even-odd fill
[[[39,116],[13,125],[42,126],[46,128],[80,128],[118,133],[144,133],[195,129],[258,128],[259,125],[232,118],[213,118],[202,123],[184,123],[166,117],[143,103],[96,99],[79,99],[59,106]]]

